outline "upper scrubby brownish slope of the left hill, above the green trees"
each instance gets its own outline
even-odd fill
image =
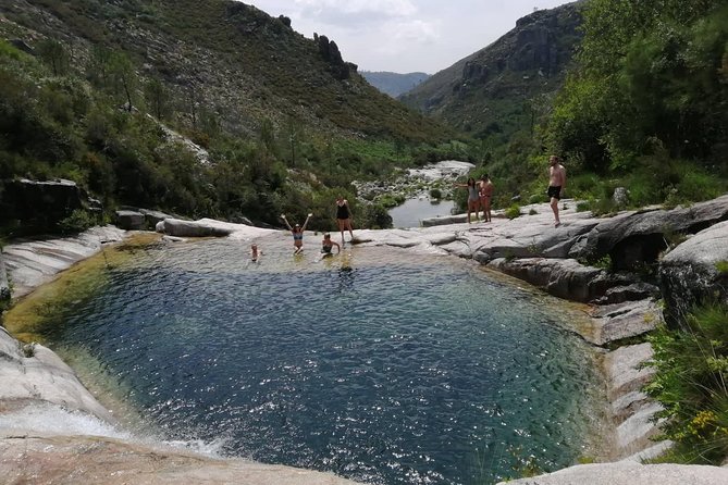
[[[369,85],[333,40],[306,38],[286,17],[229,0],[13,0],[0,3],[0,36],[30,47],[50,37],[73,50],[125,51],[144,79],[192,99],[232,133],[292,119],[321,134],[446,139],[452,130]]]

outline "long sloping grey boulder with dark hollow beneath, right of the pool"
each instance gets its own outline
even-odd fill
[[[728,220],[728,196],[673,210],[646,209],[618,214],[597,224],[573,258],[612,257],[616,270],[633,270],[657,261],[674,234],[695,234]]]

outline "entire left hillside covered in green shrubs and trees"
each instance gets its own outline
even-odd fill
[[[310,211],[313,229],[334,228],[343,195],[360,227],[386,227],[383,208],[357,200],[353,181],[467,149],[369,86],[321,38],[250,5],[32,3],[72,36],[57,40],[57,24],[4,8],[15,23],[0,34],[27,39],[37,55],[0,41],[0,179],[72,179],[107,210],[274,225],[281,212]],[[30,40],[36,30],[48,37]],[[94,217],[77,212],[34,231],[78,231]],[[0,225],[20,234],[2,214]]]

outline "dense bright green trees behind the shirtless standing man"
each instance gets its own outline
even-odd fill
[[[572,174],[600,176],[570,196],[624,186],[631,206],[674,207],[724,192],[726,2],[593,0],[583,16],[578,69],[542,134]]]

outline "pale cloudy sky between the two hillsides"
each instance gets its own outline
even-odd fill
[[[294,30],[325,35],[359,71],[434,74],[565,0],[243,0]]]

